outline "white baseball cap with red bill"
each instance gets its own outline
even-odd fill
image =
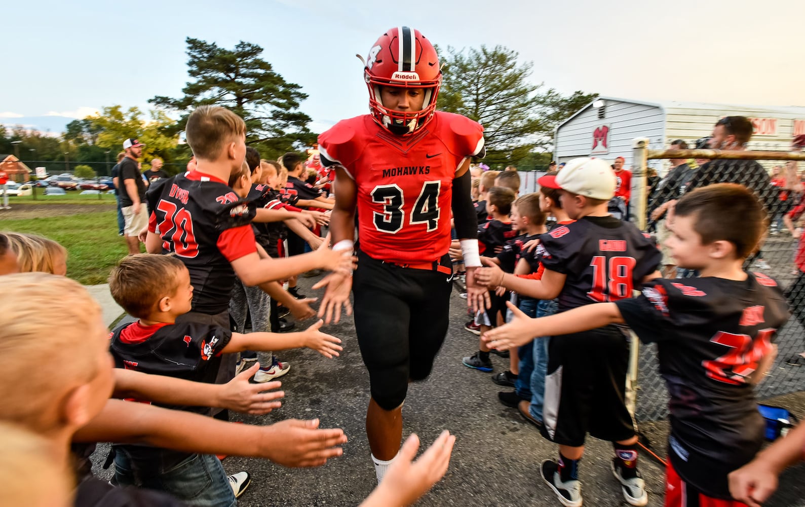
[[[601,201],[607,201],[615,195],[615,172],[601,159],[573,159],[559,174],[543,176],[537,183],[549,189],[563,189]]]

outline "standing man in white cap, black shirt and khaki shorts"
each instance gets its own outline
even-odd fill
[[[142,156],[143,146],[145,144],[137,139],[123,141],[126,157],[118,164],[120,166],[118,196],[123,218],[126,220],[123,235],[126,236],[126,246],[129,247],[130,254],[140,253],[140,241],[137,235],[148,225],[146,182],[137,163],[137,159]]]

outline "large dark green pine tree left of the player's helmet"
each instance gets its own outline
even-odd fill
[[[224,106],[246,122],[246,142],[263,156],[276,158],[316,142],[308,130],[311,118],[299,110],[307,94],[289,83],[263,60],[257,44],[239,42],[234,49],[188,37],[188,81],[184,97],[158,96],[149,102],[181,114],[172,132],[184,130],[192,109],[202,104]]]

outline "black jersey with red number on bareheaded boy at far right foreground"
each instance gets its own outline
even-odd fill
[[[659,370],[671,396],[671,435],[682,449],[739,468],[763,441],[764,422],[751,378],[789,318],[777,282],[760,273],[745,281],[658,278],[642,295],[617,301],[641,341],[656,342]],[[684,480],[708,491],[708,484]]]

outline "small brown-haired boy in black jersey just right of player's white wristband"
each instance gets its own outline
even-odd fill
[[[481,256],[493,258],[497,251],[502,250],[504,245],[514,239],[516,231],[512,231],[511,205],[514,202],[514,192],[504,187],[492,187],[487,195],[486,210],[492,217],[489,222],[478,226],[478,246]],[[514,268],[514,266],[512,266]],[[494,290],[489,291],[491,305],[486,310],[479,311],[475,316],[475,322],[480,326],[481,333],[497,326],[497,316],[506,311],[506,301],[509,293],[497,295]],[[464,357],[461,362],[467,368],[475,368],[481,372],[492,371],[492,361],[489,360],[489,347],[479,341],[479,351],[473,355]],[[505,355],[509,357],[508,354]]]

